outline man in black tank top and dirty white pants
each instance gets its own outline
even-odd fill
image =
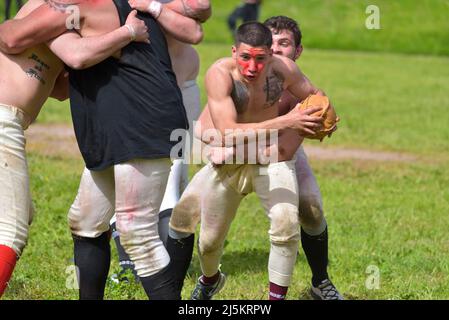
[[[184,2],[196,14],[191,4],[197,1]],[[131,12],[126,0],[46,0],[24,19],[0,26],[0,50],[17,53],[64,32],[66,9],[73,3],[79,8],[84,37],[120,27]],[[172,13],[162,8],[158,21],[179,40],[191,41],[196,31],[180,26],[182,19]],[[168,273],[170,257],[159,239],[157,214],[174,145],[170,134],[186,128],[187,120],[160,26],[148,15],[141,18],[151,43],[128,45],[119,52],[119,60],[109,58],[87,70],[70,70],[72,119],[86,162],[69,212],[81,299],[103,298],[114,212],[122,244],[148,296],[179,298]],[[164,21],[171,23],[165,26]]]

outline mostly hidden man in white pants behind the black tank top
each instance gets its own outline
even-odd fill
[[[148,12],[150,5],[154,0],[130,0],[129,4],[133,9],[139,10],[141,12]],[[173,0],[161,0],[161,3],[171,3],[175,4],[176,1]],[[201,5],[206,8],[210,7],[209,0],[203,0]],[[183,13],[186,14],[186,13]],[[203,17],[202,23],[207,17]],[[199,32],[202,34],[201,24],[198,24]],[[184,107],[187,113],[187,119],[190,126],[190,136],[192,136],[193,121],[198,119],[200,114],[200,89],[196,82],[196,78],[199,74],[200,69],[200,59],[197,51],[193,48],[192,44],[197,44],[202,40],[202,37],[197,37],[198,41],[193,43],[187,43],[185,41],[179,41],[170,32],[164,30],[165,37],[167,39],[168,51],[170,53],[170,58],[172,61],[173,71],[176,74],[176,79],[178,86],[181,89],[182,99],[184,102]],[[173,164],[170,168],[170,174],[167,181],[167,187],[165,189],[164,198],[161,203],[159,212],[159,236],[167,247],[167,241],[170,239],[168,237],[168,223],[170,221],[172,210],[175,204],[179,201],[182,192],[186,188],[188,183],[188,165],[184,164],[182,159],[173,160]],[[115,217],[111,221],[112,237],[114,238],[119,264],[121,266],[121,271],[117,275],[113,275],[112,279],[115,282],[127,281],[126,276],[127,269],[130,269],[136,280],[136,273],[134,270],[134,265],[130,260],[129,256],[124,251],[120,244],[120,234],[116,230]],[[177,245],[178,241],[171,239],[170,246]],[[191,253],[190,253],[191,254]],[[171,257],[171,259],[177,259],[178,257]]]

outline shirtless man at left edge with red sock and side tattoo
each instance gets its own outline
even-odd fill
[[[42,4],[41,0],[28,1],[16,19]],[[148,41],[147,27],[135,13],[126,24],[136,33],[136,41]],[[128,27],[104,36],[70,38],[66,41],[62,36],[18,55],[0,53],[0,296],[26,245],[33,216],[24,130],[36,119],[49,95],[61,100],[68,97],[60,59],[72,67],[89,67],[131,42]],[[78,54],[80,48],[82,54]]]

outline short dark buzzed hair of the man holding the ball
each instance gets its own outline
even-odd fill
[[[266,46],[271,48],[273,44],[273,36],[270,29],[257,21],[243,23],[238,29],[235,36],[235,45],[238,46],[245,43],[252,47]]]

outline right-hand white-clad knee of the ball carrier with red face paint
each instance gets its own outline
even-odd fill
[[[277,205],[270,212],[270,240],[274,244],[283,245],[299,241],[298,208],[291,204]]]

